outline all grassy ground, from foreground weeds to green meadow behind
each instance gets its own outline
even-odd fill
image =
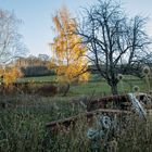
[[[18,79],[18,83],[33,81],[35,87],[48,83],[55,83],[54,77],[30,77]],[[118,92],[132,92],[132,87],[139,86],[140,91],[147,92],[144,79],[126,76],[118,84]],[[92,75],[89,83],[71,86],[66,97],[42,97],[39,94],[15,93],[1,96],[7,103],[0,107],[0,152],[67,152],[92,151],[92,143],[87,139],[88,125],[80,119],[75,132],[60,132],[59,136],[49,134],[46,124],[85,112],[79,105],[72,105],[73,100],[101,98],[111,94],[105,80]],[[131,117],[127,130],[122,130],[117,137],[117,151],[151,151],[152,122],[145,123],[138,117]],[[96,125],[94,125],[96,127]],[[128,132],[128,134],[127,134]],[[132,136],[134,135],[134,136]],[[121,139],[121,140],[119,140]],[[112,139],[115,141],[115,139]],[[98,151],[104,150],[104,141],[99,141]],[[90,148],[90,145],[92,145]],[[134,145],[134,147],[132,147]],[[126,148],[128,148],[126,150]]]

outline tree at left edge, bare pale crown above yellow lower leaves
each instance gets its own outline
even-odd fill
[[[0,76],[7,86],[21,76],[17,67],[8,64],[27,51],[22,42],[22,35],[18,34],[18,24],[21,20],[14,13],[0,9]]]

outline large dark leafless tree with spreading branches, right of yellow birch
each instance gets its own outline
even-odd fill
[[[88,46],[88,58],[100,75],[117,93],[117,75],[135,73],[147,55],[148,35],[144,31],[147,18],[128,18],[121,4],[99,0],[97,4],[85,9],[85,15],[78,28],[78,35]]]

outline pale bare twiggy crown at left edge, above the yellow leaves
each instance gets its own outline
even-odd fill
[[[25,46],[17,31],[20,23],[14,13],[0,9],[0,64],[25,54]]]

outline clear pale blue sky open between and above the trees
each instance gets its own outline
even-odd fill
[[[152,37],[152,0],[115,0],[123,3],[126,12],[134,16],[141,14],[149,16],[147,26],[148,34]],[[39,53],[51,54],[48,43],[52,41],[54,33],[51,29],[51,16],[62,5],[77,16],[81,7],[85,8],[97,0],[0,0],[0,9],[13,11],[24,24],[20,28],[20,34],[24,37],[24,43],[30,51],[30,54]]]

